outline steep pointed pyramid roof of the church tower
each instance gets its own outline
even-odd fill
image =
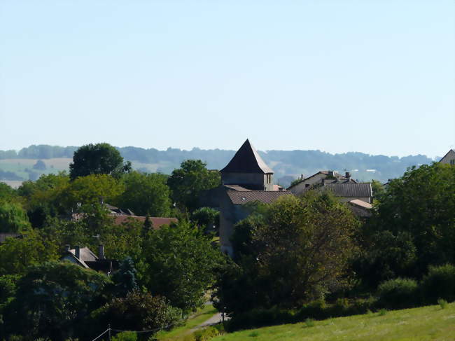
[[[267,166],[258,154],[258,151],[246,139],[241,145],[234,158],[228,165],[221,169],[221,173],[273,173],[273,170]]]

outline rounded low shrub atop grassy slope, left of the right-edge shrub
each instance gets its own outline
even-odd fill
[[[418,285],[414,279],[395,278],[381,283],[377,289],[379,306],[404,309],[419,305]]]

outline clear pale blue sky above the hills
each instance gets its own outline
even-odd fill
[[[453,0],[0,1],[0,149],[444,155]]]

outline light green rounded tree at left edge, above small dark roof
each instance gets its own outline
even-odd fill
[[[29,218],[21,204],[0,200],[0,232],[23,232],[29,228]]]

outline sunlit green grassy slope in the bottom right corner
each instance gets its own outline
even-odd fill
[[[455,340],[455,302],[447,305],[445,309],[439,305],[432,305],[390,311],[383,316],[372,313],[313,323],[243,330],[211,339],[211,341],[233,340]]]

